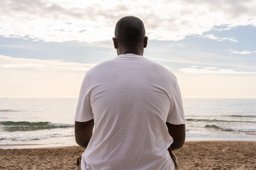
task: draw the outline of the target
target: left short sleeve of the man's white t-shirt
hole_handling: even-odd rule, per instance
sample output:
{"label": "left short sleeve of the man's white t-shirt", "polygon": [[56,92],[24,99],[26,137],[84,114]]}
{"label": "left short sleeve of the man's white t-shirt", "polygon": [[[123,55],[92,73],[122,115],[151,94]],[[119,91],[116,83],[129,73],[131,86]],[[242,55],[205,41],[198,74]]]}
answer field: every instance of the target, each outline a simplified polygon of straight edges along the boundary
{"label": "left short sleeve of the man's white t-shirt", "polygon": [[74,121],[85,122],[91,119],[94,119],[94,117],[90,104],[90,88],[85,75],[79,93]]}

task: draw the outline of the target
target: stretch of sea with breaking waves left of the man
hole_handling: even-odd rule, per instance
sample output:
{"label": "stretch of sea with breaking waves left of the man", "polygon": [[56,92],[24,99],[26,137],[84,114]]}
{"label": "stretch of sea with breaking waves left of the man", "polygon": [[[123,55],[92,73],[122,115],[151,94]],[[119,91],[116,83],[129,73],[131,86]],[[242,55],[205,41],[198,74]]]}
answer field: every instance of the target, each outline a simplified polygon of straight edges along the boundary
{"label": "stretch of sea with breaking waves left of the man", "polygon": [[0,98],[0,145],[50,142],[43,139],[61,144],[60,137],[75,144],[76,104],[76,98]]}

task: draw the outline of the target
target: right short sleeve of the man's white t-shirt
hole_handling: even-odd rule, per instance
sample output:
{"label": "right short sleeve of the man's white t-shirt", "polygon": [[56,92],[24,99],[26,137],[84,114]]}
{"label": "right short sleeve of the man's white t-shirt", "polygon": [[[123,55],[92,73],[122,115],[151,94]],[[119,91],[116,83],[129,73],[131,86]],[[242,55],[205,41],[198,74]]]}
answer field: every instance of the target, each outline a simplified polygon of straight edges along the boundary
{"label": "right short sleeve of the man's white t-shirt", "polygon": [[182,104],[182,96],[180,93],[180,87],[176,82],[176,88],[174,88],[173,94],[170,95],[171,108],[168,113],[167,122],[174,125],[185,124],[185,116]]}

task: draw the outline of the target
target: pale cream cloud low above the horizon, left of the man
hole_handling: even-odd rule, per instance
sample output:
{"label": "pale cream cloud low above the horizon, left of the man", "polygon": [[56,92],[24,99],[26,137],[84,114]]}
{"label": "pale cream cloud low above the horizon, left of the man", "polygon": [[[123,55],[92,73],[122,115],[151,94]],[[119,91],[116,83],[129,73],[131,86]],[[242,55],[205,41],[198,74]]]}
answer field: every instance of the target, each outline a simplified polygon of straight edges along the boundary
{"label": "pale cream cloud low above the horizon, left of the man", "polygon": [[0,55],[0,96],[78,97],[83,77],[94,65]]}

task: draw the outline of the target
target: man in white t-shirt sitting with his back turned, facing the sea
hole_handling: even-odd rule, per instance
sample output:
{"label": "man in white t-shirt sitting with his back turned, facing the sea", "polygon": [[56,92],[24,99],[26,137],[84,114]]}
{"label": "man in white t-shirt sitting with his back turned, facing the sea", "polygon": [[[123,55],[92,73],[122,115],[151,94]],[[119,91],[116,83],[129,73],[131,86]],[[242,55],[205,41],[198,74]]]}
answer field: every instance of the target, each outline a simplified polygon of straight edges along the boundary
{"label": "man in white t-shirt sitting with his back turned, facing the sea", "polygon": [[121,18],[113,42],[118,56],[87,71],[81,86],[75,115],[76,142],[86,148],[81,169],[173,170],[171,150],[185,139],[176,77],[143,57],[148,37],[139,18]]}

